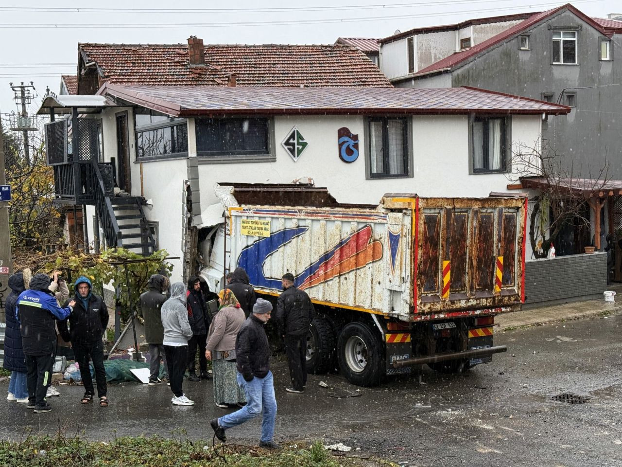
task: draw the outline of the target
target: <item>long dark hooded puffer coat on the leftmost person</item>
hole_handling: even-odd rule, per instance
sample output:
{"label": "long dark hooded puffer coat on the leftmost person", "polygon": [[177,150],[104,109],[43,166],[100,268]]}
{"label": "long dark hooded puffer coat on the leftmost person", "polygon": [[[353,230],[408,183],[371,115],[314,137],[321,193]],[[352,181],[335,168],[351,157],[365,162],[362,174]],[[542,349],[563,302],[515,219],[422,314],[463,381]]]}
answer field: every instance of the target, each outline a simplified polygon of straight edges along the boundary
{"label": "long dark hooded puffer coat on the leftmost person", "polygon": [[2,366],[9,371],[26,373],[26,357],[24,357],[24,351],[22,350],[22,334],[19,330],[19,323],[15,318],[17,297],[25,289],[24,275],[16,273],[9,277],[9,288],[11,288],[11,293],[9,293],[4,302],[6,329],[4,330],[4,363]]}

